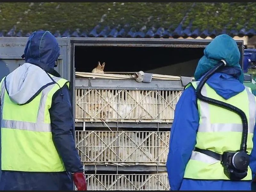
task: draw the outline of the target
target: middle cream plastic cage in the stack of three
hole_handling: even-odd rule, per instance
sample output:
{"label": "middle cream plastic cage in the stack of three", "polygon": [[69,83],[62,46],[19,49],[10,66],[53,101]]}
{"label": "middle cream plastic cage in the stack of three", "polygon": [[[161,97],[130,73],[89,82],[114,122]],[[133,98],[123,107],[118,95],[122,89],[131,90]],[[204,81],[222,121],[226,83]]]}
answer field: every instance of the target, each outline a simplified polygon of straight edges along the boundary
{"label": "middle cream plastic cage in the stack of three", "polygon": [[76,131],[83,164],[165,164],[170,132]]}

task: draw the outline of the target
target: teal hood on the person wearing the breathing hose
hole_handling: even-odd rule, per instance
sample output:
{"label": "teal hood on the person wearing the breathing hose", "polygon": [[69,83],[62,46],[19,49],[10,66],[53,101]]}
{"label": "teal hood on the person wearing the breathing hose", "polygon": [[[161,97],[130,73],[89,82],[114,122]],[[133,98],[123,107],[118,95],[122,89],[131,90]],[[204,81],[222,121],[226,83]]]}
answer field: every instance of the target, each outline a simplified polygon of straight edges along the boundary
{"label": "teal hood on the person wearing the breathing hose", "polygon": [[216,66],[222,59],[227,62],[227,66],[241,70],[238,79],[243,83],[244,74],[239,64],[240,52],[238,46],[236,41],[226,34],[216,36],[212,42],[205,47],[204,56],[199,60],[196,67],[194,75],[196,81],[204,76],[207,71]]}

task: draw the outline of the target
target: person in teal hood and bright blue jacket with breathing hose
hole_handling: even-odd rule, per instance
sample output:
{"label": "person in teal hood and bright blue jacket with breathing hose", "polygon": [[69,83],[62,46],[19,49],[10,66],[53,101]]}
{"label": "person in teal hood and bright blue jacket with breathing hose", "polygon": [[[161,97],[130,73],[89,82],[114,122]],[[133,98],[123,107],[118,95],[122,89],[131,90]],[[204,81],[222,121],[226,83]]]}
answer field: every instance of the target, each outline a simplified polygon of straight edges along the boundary
{"label": "person in teal hood and bright blue jacket with breathing hose", "polygon": [[[197,100],[195,89],[206,72],[220,60],[227,65],[216,71],[204,84],[202,95],[228,102],[244,111],[248,119],[247,151],[250,156],[247,176],[230,180],[220,160],[198,152],[208,149],[215,154],[238,151],[242,138],[242,120],[236,113]],[[186,86],[174,114],[170,147],[166,162],[171,190],[251,190],[256,172],[256,101],[250,88],[243,85],[240,53],[233,38],[217,36],[204,49],[195,71],[195,83]]]}

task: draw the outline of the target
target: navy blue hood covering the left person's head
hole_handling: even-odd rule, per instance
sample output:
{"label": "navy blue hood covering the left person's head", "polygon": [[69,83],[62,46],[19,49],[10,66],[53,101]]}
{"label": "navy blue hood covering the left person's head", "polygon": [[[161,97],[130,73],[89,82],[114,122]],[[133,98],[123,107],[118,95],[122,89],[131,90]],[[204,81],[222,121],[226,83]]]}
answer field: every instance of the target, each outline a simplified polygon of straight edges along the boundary
{"label": "navy blue hood covering the left person's head", "polygon": [[26,63],[51,71],[60,56],[60,47],[49,31],[35,31],[28,38],[24,56]]}

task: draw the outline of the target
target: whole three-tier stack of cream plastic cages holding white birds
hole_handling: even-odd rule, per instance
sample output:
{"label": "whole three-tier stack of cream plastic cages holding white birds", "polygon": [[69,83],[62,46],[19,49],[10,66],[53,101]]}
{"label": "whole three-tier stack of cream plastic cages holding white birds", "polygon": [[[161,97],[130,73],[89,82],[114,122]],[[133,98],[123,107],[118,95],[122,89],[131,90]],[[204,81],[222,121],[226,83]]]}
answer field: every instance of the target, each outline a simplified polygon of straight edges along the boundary
{"label": "whole three-tier stack of cream plastic cages holding white birds", "polygon": [[169,190],[180,80],[76,79],[76,148],[88,190]]}

